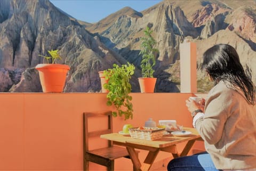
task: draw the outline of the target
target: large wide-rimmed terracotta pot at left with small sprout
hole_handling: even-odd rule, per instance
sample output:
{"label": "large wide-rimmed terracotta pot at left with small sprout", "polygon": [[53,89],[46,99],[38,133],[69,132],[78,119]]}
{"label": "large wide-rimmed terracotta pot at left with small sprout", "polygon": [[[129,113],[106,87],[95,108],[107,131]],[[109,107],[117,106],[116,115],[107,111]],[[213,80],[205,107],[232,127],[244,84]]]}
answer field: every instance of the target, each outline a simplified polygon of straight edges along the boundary
{"label": "large wide-rimmed terracotta pot at left with small sprout", "polygon": [[66,64],[37,64],[39,78],[44,93],[61,93],[65,85],[67,72]]}

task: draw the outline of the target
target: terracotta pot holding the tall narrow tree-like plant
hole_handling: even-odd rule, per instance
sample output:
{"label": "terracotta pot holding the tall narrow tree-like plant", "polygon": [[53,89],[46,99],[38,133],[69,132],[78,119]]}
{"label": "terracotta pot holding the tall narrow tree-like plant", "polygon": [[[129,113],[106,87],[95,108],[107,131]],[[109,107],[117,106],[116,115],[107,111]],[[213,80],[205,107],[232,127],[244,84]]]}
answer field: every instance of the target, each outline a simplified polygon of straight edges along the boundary
{"label": "terracotta pot holding the tall narrow tree-like plant", "polygon": [[156,78],[138,78],[141,93],[154,93]]}

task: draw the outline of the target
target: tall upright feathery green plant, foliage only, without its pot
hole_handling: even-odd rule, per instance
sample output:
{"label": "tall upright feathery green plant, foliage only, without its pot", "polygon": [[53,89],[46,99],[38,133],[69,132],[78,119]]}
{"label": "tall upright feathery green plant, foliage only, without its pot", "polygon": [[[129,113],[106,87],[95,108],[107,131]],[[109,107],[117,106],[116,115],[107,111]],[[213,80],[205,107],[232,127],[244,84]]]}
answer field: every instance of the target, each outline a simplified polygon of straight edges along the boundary
{"label": "tall upright feathery green plant, foliage only, without its pot", "polygon": [[155,70],[153,67],[156,64],[156,54],[159,52],[157,48],[154,48],[156,44],[156,40],[152,37],[153,30],[150,30],[149,27],[144,30],[144,34],[146,37],[142,37],[141,42],[141,51],[139,55],[142,54],[141,60],[141,72],[142,77],[150,77],[153,78],[153,74]]}

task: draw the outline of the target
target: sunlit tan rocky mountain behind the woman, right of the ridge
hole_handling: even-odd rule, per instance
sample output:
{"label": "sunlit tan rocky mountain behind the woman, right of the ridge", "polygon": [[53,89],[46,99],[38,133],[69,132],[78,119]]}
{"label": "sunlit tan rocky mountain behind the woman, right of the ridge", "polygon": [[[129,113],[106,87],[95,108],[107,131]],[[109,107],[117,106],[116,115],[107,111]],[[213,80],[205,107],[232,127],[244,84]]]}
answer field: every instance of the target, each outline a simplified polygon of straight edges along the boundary
{"label": "sunlit tan rocky mountain behind the woman, right of the ridge", "polygon": [[[140,38],[146,26],[152,27],[160,50],[155,67],[158,92],[179,91],[179,44],[185,39],[197,43],[198,66],[203,52],[213,44],[236,45],[241,61],[245,68],[250,68],[248,72],[255,84],[255,67],[251,63],[256,58],[255,9],[256,1],[165,0],[141,11],[142,16],[135,15],[138,12],[132,9],[130,15],[126,15],[128,9],[125,8],[116,12],[123,14],[119,18],[109,15],[96,23],[97,27],[92,25],[86,29],[103,36],[101,40],[107,47],[140,68]],[[216,36],[217,39],[211,38]],[[210,87],[207,87],[207,81],[203,86],[202,80],[205,82],[198,70],[198,91],[205,92]]]}

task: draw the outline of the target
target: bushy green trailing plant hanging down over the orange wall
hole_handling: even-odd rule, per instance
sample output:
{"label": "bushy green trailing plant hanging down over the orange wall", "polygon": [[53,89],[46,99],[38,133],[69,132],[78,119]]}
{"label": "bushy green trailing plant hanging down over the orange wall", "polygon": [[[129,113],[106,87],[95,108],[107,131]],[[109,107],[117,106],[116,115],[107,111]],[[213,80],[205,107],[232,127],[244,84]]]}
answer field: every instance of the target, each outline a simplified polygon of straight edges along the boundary
{"label": "bushy green trailing plant hanging down over the orange wall", "polygon": [[116,111],[112,112],[114,117],[123,116],[126,119],[133,117],[133,105],[131,103],[132,96],[129,95],[132,90],[130,84],[131,76],[134,74],[135,67],[133,64],[128,62],[119,67],[117,64],[113,64],[113,68],[103,71],[107,83],[103,85],[104,88],[108,89],[107,94],[107,105],[111,106],[114,104]]}

